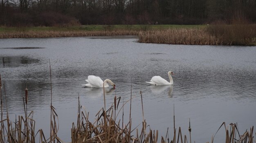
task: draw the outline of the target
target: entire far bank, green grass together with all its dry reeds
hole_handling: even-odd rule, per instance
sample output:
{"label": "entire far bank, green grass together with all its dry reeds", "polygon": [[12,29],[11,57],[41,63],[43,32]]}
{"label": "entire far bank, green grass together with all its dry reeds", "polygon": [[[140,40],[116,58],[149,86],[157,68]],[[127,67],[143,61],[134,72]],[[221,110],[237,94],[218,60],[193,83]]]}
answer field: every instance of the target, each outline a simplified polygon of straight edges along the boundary
{"label": "entire far bank, green grass together with all its dry reeds", "polygon": [[0,27],[0,38],[138,35],[138,42],[256,46],[256,24]]}

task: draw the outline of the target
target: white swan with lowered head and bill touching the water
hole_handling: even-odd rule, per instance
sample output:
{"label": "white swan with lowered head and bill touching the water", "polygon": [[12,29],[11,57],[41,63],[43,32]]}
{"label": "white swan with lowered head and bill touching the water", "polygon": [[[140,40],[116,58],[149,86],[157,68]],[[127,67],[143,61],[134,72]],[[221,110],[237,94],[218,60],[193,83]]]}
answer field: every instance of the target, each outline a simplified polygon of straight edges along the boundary
{"label": "white swan with lowered head and bill touching the water", "polygon": [[94,75],[89,75],[88,79],[85,79],[85,81],[87,81],[88,84],[82,84],[82,86],[94,87],[94,88],[103,88],[103,83],[104,83],[104,88],[109,87],[108,83],[111,84],[111,86],[114,86],[114,88],[116,86],[110,79],[105,79],[104,82],[103,82],[100,77],[96,77]]}

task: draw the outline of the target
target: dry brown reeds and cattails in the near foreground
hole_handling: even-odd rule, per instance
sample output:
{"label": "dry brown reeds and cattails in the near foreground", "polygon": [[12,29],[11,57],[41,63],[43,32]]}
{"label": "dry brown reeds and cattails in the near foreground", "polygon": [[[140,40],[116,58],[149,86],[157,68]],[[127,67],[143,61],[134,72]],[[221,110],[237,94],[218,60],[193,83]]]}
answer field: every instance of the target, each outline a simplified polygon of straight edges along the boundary
{"label": "dry brown reeds and cattails in the near foreground", "polygon": [[[50,69],[51,80],[51,69]],[[4,92],[2,92],[4,89]],[[52,81],[51,81],[51,99],[52,99]],[[104,88],[103,88],[104,90]],[[132,86],[131,86],[132,91]],[[105,93],[103,91],[103,93]],[[51,119],[49,120],[50,134],[46,137],[43,130],[35,130],[35,122],[33,120],[34,112],[27,112],[27,104],[29,104],[29,92],[25,88],[25,96],[23,98],[24,104],[24,116],[18,116],[15,121],[11,121],[8,116],[8,109],[6,108],[6,117],[3,117],[2,109],[4,108],[4,102],[6,100],[6,92],[0,75],[0,98],[1,98],[1,128],[0,128],[0,143],[64,143],[58,137],[58,115],[56,109],[52,105],[50,106]],[[5,98],[4,98],[5,97]],[[141,125],[136,128],[132,128],[131,108],[132,108],[132,96],[128,101],[121,101],[121,97],[114,98],[113,104],[110,107],[106,107],[105,94],[104,94],[104,107],[96,114],[97,119],[93,122],[89,121],[89,113],[85,108],[81,106],[78,95],[78,114],[76,123],[72,123],[71,128],[71,143],[191,143],[191,127],[189,121],[189,138],[182,136],[182,130],[179,127],[178,131],[175,128],[175,115],[173,107],[173,136],[169,138],[168,128],[165,136],[158,137],[158,130],[151,130],[149,125],[146,124],[143,111],[143,97],[141,97],[142,117]],[[5,99],[5,101],[3,100]],[[4,102],[3,102],[4,101]],[[120,102],[121,101],[121,102]],[[128,123],[124,123],[124,108],[125,105],[130,103],[130,118]],[[123,112],[122,115],[119,115]],[[231,123],[230,129],[226,126],[226,123],[222,123],[217,132],[223,127],[225,128],[225,143],[253,143],[254,140],[254,127],[250,130],[239,133],[238,125]],[[141,129],[139,129],[139,127]],[[166,129],[163,129],[166,130]],[[216,132],[216,134],[217,134]],[[215,135],[216,135],[215,134]],[[211,143],[214,141],[212,136]],[[208,142],[209,143],[209,142]]]}

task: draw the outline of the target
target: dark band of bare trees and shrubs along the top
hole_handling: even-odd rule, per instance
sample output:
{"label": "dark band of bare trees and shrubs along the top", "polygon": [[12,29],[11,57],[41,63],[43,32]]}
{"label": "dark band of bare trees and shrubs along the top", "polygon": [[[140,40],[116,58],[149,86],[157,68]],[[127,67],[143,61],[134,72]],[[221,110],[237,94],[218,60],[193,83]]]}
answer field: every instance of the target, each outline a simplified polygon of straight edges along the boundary
{"label": "dark band of bare trees and shrubs along the top", "polygon": [[0,25],[256,22],[256,0],[0,0]]}

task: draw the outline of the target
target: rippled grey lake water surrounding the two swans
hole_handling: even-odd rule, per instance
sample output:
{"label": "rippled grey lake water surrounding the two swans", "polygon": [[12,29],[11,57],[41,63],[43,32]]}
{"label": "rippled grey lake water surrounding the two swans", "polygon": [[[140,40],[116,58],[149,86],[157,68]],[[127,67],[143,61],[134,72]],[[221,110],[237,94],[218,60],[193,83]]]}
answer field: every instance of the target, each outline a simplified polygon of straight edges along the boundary
{"label": "rippled grey lake water surrounding the two swans", "polygon": [[[106,89],[106,106],[115,95],[130,99],[132,87],[132,125],[144,118],[161,136],[173,136],[175,126],[196,143],[211,141],[222,122],[238,123],[240,133],[256,125],[256,46],[191,46],[137,43],[135,37],[63,37],[0,39],[0,74],[7,94],[12,121],[24,115],[22,95],[29,90],[28,110],[34,111],[36,129],[49,134],[50,74],[52,101],[59,118],[58,136],[71,141],[70,129],[76,122],[78,95],[91,122],[104,106],[101,88],[84,88],[88,75],[111,79],[116,89]],[[149,86],[154,75],[173,86]],[[129,118],[130,104],[124,117]],[[5,111],[6,109],[3,108]],[[4,112],[4,114],[6,114]],[[121,114],[119,115],[121,119]],[[128,122],[125,122],[128,123]],[[141,128],[139,128],[140,130]],[[215,142],[225,142],[225,129]],[[255,131],[254,131],[255,132]],[[255,134],[255,133],[254,133]]]}

